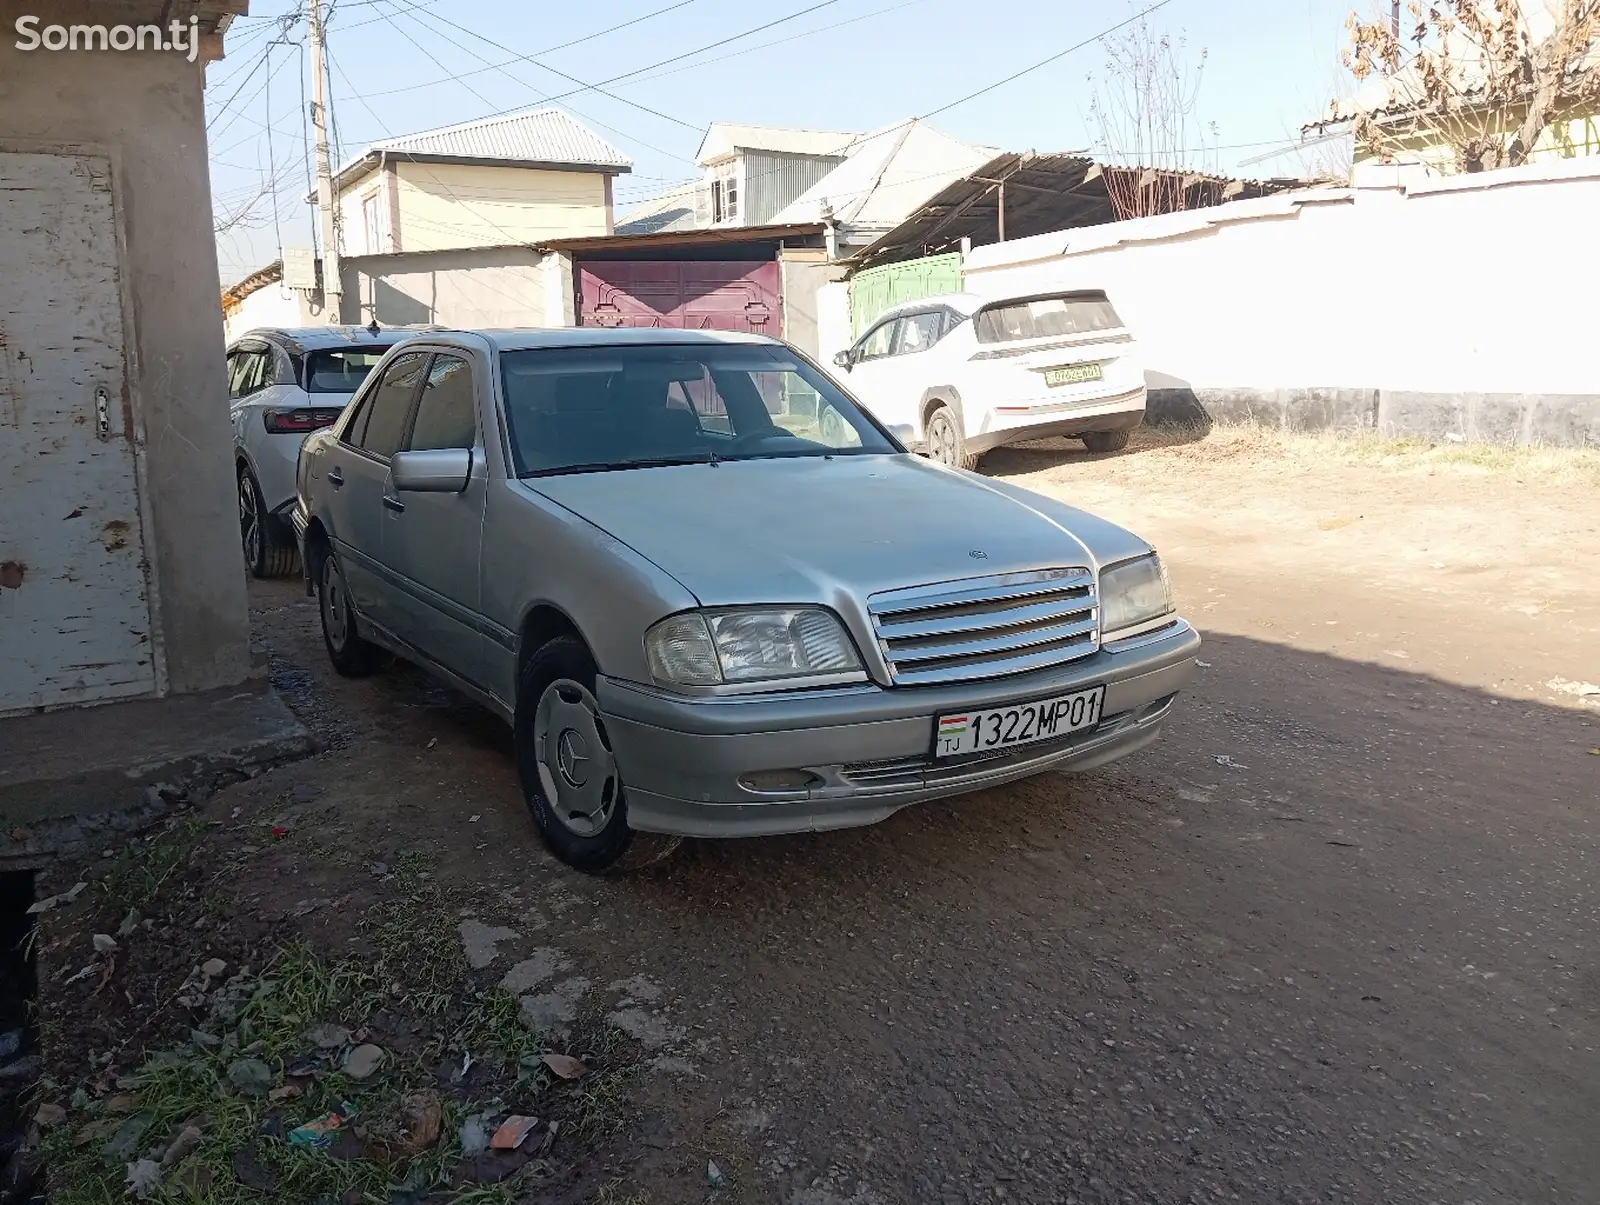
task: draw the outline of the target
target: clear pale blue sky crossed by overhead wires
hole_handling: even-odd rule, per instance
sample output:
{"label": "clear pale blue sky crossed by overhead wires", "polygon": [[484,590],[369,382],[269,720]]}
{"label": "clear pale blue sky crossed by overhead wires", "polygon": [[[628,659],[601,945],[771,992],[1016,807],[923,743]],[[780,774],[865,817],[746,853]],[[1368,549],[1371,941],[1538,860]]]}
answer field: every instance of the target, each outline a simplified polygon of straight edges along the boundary
{"label": "clear pale blue sky crossed by overhead wires", "polygon": [[[349,155],[386,134],[536,106],[579,88],[563,74],[598,83],[814,8],[606,85],[622,99],[581,91],[558,101],[634,160],[634,173],[618,181],[618,210],[626,211],[698,174],[693,158],[709,122],[872,130],[939,109],[1152,2],[686,0],[662,16],[541,54],[675,0],[338,0],[328,24],[334,117]],[[1363,10],[1371,2],[1357,0]],[[293,45],[278,45],[262,61],[278,32],[275,18],[298,8],[296,0],[253,0],[251,16],[229,34],[227,59],[210,67],[213,192],[221,210],[248,210],[218,240],[224,282],[275,259],[278,230],[285,243],[310,242],[299,107],[304,26],[288,32]],[[1147,18],[1157,30],[1184,37],[1190,61],[1206,51],[1197,117],[1216,125],[1216,170],[1299,170],[1294,155],[1245,168],[1240,160],[1291,138],[1341,88],[1349,10],[1350,0],[1168,0]],[[539,62],[483,70],[514,58],[483,38],[515,54],[539,54]],[[1090,147],[1090,77],[1102,72],[1104,61],[1104,50],[1091,43],[930,122],[1010,150]],[[264,182],[275,186],[277,213],[269,197],[258,198]]]}

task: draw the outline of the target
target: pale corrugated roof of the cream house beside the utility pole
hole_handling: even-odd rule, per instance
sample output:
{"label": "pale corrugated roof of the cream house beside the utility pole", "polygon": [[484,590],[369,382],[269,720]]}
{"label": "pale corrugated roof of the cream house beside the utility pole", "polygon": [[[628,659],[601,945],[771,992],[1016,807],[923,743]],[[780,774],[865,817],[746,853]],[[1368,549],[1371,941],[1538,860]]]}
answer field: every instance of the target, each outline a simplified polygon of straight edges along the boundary
{"label": "pale corrugated roof of the cream house beside the utility pole", "polygon": [[486,117],[478,122],[424,130],[416,134],[373,142],[357,158],[339,168],[342,181],[350,171],[381,154],[426,155],[442,160],[528,163],[581,170],[632,171],[634,162],[600,134],[563,109]]}

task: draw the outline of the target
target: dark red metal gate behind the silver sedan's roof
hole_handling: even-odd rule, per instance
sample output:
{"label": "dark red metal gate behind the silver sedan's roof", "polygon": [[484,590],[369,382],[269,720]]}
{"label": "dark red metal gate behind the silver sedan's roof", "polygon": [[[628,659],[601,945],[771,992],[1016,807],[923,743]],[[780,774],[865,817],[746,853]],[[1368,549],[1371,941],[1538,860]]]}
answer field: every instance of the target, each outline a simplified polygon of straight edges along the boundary
{"label": "dark red metal gate behind the silver sedan's roof", "polygon": [[778,262],[624,259],[578,269],[579,326],[782,336]]}

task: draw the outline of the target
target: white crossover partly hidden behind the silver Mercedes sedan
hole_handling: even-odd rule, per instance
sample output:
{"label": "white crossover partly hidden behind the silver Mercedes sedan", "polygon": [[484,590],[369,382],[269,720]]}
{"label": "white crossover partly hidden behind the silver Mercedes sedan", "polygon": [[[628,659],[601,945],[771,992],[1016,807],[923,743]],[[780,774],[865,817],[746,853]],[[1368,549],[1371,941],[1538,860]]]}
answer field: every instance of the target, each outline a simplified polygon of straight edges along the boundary
{"label": "white crossover partly hidden behind the silver Mercedes sedan", "polygon": [[416,330],[264,328],[229,346],[238,534],[253,576],[280,578],[296,566],[288,512],[306,435],[331,426],[384,352]]}

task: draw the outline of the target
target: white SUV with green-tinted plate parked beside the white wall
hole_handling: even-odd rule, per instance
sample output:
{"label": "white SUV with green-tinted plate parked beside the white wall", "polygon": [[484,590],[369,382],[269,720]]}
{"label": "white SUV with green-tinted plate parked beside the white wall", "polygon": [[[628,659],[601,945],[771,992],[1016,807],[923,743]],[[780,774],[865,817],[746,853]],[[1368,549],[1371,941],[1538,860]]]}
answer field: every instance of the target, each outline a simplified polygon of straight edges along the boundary
{"label": "white SUV with green-tinted plate parked beside the white wall", "polygon": [[1144,368],[1104,293],[909,301],[834,365],[907,446],[962,469],[1050,435],[1117,451],[1144,421]]}

